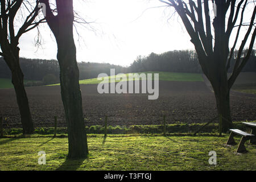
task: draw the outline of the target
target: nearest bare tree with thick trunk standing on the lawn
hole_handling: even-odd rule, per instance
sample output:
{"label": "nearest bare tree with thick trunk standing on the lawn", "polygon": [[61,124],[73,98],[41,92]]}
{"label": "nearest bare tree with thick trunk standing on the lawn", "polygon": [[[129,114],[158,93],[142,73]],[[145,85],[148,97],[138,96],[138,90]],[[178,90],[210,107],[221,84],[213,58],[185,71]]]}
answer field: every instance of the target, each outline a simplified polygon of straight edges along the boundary
{"label": "nearest bare tree with thick trunk standing on the lawn", "polygon": [[56,15],[52,13],[48,0],[40,2],[46,5],[46,20],[57,42],[61,97],[68,125],[68,158],[84,158],[88,155],[88,145],[82,117],[79,69],[73,39],[73,1],[56,0]]}

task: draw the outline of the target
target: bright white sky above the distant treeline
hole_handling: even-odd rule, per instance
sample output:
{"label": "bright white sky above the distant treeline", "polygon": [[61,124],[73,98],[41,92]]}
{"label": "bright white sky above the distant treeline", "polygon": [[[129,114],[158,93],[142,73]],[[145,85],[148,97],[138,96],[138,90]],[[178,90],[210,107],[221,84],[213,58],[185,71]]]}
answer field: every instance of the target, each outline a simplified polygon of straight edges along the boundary
{"label": "bright white sky above the distant treeline", "polygon": [[[90,27],[75,33],[77,61],[130,65],[137,56],[174,49],[194,49],[181,21],[156,0],[75,0],[74,9]],[[157,7],[157,8],[151,8]],[[169,19],[169,20],[168,20]],[[75,30],[74,30],[75,31]],[[34,46],[37,31],[20,38],[20,56],[56,59],[56,43],[47,24],[40,26],[43,44]]]}

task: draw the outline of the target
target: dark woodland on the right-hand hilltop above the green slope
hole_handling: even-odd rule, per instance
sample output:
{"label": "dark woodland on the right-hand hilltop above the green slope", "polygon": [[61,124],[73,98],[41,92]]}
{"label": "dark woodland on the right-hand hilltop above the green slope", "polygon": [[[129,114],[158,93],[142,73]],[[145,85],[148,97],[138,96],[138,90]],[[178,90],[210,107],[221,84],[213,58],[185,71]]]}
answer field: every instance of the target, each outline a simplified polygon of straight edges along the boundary
{"label": "dark woodland on the right-hand hilltop above the green slope", "polygon": [[[247,52],[242,53],[242,57]],[[237,51],[233,57],[237,56]],[[232,72],[234,59],[228,72]],[[180,73],[203,73],[195,51],[169,51],[161,54],[151,53],[149,56],[138,56],[128,68],[129,72],[163,71]],[[242,72],[256,72],[256,50],[251,52],[250,59]]]}

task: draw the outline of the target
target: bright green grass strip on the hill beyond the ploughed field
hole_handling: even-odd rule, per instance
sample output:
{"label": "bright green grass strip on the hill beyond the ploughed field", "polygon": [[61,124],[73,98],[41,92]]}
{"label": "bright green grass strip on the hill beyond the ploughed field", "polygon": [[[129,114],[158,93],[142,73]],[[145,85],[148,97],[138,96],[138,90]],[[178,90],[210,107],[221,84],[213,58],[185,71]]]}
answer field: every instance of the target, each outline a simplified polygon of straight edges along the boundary
{"label": "bright green grass strip on the hill beyond the ploughed field", "polygon": [[[159,73],[160,81],[204,81],[202,75],[199,73],[140,72],[139,74],[141,74],[141,73]],[[103,77],[103,78],[106,78],[106,80],[108,80],[106,82],[113,82],[112,80],[110,80],[111,78],[126,76],[127,81],[130,81],[128,75],[129,75],[129,73],[123,74],[123,75],[118,75],[118,76],[116,76],[116,75],[111,76],[111,77],[108,76],[108,77]],[[103,78],[102,78],[102,80],[103,80]],[[80,80],[79,83],[80,84],[99,84],[100,82],[102,82],[102,80],[97,80],[97,78],[91,78],[91,79],[86,79],[86,80]],[[135,80],[138,80],[138,79],[135,79]],[[114,80],[114,81],[118,82],[118,80]],[[119,81],[122,81],[122,78]],[[59,85],[59,84],[54,84],[54,85]]]}

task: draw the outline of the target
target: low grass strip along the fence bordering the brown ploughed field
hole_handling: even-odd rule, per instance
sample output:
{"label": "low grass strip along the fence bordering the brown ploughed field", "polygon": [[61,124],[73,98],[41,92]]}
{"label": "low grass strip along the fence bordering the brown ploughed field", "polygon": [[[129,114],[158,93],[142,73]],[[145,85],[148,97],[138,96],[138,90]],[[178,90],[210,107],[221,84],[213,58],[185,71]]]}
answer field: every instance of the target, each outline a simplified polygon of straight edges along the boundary
{"label": "low grass strip along the fence bordering the brown ploughed field", "polygon": [[[256,122],[256,121],[254,121]],[[104,123],[102,125],[86,126],[86,133],[88,134],[104,134]],[[205,123],[173,123],[166,125],[167,134],[182,134],[192,135],[195,131],[199,130]],[[234,128],[246,131],[245,125],[241,122],[233,122]],[[132,125],[132,126],[108,126],[108,134],[162,134],[164,132],[163,125]],[[250,132],[250,131],[248,131]],[[19,135],[22,134],[22,129],[3,129],[4,135]],[[57,134],[67,134],[67,127],[57,127]],[[218,123],[210,123],[200,130],[201,134],[215,135],[218,134]],[[54,134],[53,127],[38,127],[35,129],[35,134],[49,135]]]}

